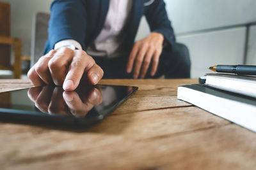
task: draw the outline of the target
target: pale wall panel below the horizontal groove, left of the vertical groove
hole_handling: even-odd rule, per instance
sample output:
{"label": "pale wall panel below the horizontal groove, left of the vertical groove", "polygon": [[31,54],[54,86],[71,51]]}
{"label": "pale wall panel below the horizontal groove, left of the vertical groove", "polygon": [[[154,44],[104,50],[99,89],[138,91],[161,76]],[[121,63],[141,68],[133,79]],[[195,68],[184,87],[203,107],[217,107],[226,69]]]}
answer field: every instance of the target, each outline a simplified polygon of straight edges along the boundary
{"label": "pale wall panel below the horizontal groove, left of the vertical groove", "polygon": [[245,42],[244,27],[179,36],[177,41],[189,47],[191,77],[209,73],[216,64],[242,64]]}

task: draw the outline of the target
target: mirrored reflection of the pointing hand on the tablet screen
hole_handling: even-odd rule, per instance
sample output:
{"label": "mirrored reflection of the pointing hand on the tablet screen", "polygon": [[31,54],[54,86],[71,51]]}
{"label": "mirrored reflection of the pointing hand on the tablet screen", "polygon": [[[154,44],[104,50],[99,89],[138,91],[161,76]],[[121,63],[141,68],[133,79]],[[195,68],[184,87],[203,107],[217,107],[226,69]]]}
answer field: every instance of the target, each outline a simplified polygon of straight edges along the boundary
{"label": "mirrored reflection of the pointing hand on the tablet screen", "polygon": [[28,97],[44,113],[84,117],[93,106],[102,103],[102,90],[86,86],[67,92],[62,87],[33,87],[28,90]]}

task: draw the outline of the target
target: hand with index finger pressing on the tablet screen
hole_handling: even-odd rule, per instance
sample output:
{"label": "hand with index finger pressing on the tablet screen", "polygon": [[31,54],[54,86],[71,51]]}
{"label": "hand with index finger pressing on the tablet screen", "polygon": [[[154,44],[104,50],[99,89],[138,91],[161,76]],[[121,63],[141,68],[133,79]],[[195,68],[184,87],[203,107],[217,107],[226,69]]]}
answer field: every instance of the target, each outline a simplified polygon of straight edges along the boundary
{"label": "hand with index finger pressing on the tablet screen", "polygon": [[75,90],[80,81],[97,84],[103,76],[103,71],[95,61],[83,50],[61,48],[51,50],[40,57],[38,62],[28,71],[28,77],[33,85],[44,84],[63,85],[67,91]]}

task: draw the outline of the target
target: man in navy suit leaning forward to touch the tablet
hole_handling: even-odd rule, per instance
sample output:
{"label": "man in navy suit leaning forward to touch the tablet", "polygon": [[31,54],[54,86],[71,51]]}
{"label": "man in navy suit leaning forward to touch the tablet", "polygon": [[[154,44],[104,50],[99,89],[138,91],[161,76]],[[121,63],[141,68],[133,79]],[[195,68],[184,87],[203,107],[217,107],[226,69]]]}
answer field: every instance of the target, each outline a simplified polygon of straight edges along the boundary
{"label": "man in navy suit leaning forward to touch the tablet", "polygon": [[[134,44],[143,15],[151,34]],[[48,53],[28,77],[35,86],[54,83],[64,90],[83,81],[95,85],[103,73],[104,78],[189,77],[190,60],[177,49],[163,0],[55,0]]]}

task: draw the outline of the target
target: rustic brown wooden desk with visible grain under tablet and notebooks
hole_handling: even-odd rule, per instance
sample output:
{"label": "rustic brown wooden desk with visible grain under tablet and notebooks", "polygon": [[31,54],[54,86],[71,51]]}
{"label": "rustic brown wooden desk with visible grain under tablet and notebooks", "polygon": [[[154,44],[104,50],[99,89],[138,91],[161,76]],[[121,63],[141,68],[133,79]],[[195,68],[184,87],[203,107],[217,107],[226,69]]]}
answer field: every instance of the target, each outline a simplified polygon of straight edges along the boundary
{"label": "rustic brown wooden desk with visible grain under tablet and notebooks", "polygon": [[[139,87],[88,132],[0,124],[0,169],[255,169],[256,134],[178,101],[197,80],[102,80]],[[0,90],[31,87],[1,80]]]}

